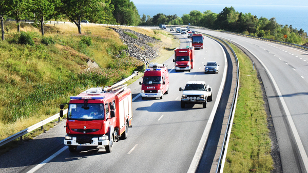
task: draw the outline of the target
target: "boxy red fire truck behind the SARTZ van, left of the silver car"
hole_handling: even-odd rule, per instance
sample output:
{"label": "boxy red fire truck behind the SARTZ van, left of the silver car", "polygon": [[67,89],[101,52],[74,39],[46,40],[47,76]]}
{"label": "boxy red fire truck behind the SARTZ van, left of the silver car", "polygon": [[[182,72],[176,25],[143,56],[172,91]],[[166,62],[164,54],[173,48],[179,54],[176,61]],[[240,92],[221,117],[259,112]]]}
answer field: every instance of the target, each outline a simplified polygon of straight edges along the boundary
{"label": "boxy red fire truck behind the SARTZ van, left of the silver car", "polygon": [[176,72],[182,70],[188,70],[190,72],[191,69],[194,69],[195,65],[195,48],[187,47],[187,48],[176,48],[175,49],[175,59],[173,60],[175,64]]}

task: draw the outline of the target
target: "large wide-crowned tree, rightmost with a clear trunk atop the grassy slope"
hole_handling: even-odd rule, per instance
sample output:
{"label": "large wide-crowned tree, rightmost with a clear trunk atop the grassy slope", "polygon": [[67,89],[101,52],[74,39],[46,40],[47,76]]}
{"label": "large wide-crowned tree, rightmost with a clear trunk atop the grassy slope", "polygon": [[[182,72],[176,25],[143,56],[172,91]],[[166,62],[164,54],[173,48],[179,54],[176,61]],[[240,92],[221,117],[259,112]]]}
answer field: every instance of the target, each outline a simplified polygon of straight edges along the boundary
{"label": "large wide-crowned tree, rightmost with a clear trunk atop the grassy slope", "polygon": [[113,6],[109,8],[109,4],[109,0],[60,0],[56,4],[56,9],[74,23],[78,33],[81,34],[82,19],[92,22],[112,20],[112,18],[108,19],[113,9]]}

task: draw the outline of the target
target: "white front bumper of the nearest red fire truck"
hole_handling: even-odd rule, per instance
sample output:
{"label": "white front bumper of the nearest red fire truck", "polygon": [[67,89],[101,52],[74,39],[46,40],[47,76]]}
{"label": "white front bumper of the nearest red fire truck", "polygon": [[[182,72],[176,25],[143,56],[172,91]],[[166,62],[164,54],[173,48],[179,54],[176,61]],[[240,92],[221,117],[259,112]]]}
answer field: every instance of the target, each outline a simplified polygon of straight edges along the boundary
{"label": "white front bumper of the nearest red fire truck", "polygon": [[64,145],[78,145],[78,146],[99,146],[109,145],[109,138],[106,135],[101,137],[83,138],[83,137],[72,137],[65,136]]}

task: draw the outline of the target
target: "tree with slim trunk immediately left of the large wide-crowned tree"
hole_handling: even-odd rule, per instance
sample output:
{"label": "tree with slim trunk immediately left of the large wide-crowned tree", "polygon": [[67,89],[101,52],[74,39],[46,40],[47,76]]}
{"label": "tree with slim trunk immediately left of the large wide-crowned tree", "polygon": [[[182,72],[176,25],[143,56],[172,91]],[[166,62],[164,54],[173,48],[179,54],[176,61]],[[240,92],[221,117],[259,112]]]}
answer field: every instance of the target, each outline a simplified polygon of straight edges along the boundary
{"label": "tree with slim trunk immediately left of the large wide-crowned tree", "polygon": [[41,23],[41,33],[44,35],[44,19],[51,19],[54,14],[54,3],[51,0],[32,1],[31,11],[34,17]]}

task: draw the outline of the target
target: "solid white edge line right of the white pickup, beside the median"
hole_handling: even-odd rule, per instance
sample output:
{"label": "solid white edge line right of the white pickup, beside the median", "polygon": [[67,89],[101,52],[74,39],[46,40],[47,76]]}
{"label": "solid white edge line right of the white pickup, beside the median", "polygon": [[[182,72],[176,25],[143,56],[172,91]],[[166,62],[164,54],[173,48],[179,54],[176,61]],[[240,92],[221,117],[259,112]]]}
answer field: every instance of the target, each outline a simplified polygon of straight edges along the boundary
{"label": "solid white edge line right of the white pickup, beside the median", "polygon": [[[218,42],[216,42],[216,43],[218,44]],[[222,82],[220,84],[220,88],[219,88],[219,91],[218,91],[218,94],[217,94],[217,97],[216,97],[216,101],[215,101],[213,110],[210,113],[210,116],[208,118],[208,121],[207,121],[207,124],[205,126],[204,132],[202,134],[201,140],[200,140],[199,145],[197,147],[195,156],[194,156],[194,158],[192,158],[192,161],[190,163],[189,169],[187,171],[189,173],[196,172],[198,164],[199,164],[199,161],[201,160],[203,149],[204,149],[204,146],[206,144],[206,141],[207,141],[207,138],[208,138],[208,135],[209,135],[209,131],[210,131],[211,125],[212,125],[212,123],[214,121],[214,117],[215,117],[215,114],[216,114],[216,111],[217,111],[217,107],[218,107],[218,104],[219,104],[219,101],[220,101],[220,97],[222,95],[222,91],[223,91],[224,84],[225,84],[226,77],[227,77],[227,68],[228,68],[227,57],[226,57],[226,54],[225,54],[222,46],[220,44],[218,44],[218,45],[222,49],[222,52],[224,53],[224,59],[225,59],[225,68],[224,68],[224,73],[223,73],[223,77],[222,77]]]}

